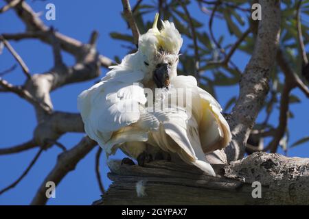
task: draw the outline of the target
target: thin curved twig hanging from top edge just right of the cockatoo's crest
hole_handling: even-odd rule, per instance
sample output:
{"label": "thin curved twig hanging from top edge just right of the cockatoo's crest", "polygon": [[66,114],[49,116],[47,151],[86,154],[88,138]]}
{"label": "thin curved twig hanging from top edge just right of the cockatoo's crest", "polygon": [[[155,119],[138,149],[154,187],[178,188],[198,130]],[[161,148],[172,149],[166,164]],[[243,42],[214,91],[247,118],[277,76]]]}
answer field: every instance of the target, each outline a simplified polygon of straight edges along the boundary
{"label": "thin curved twig hanging from top edge just right of the cockatoo's crest", "polygon": [[193,45],[194,45],[195,77],[196,77],[196,81],[198,81],[198,83],[199,83],[200,82],[200,74],[199,74],[200,56],[198,55],[198,42],[197,42],[197,38],[196,38],[195,27],[194,27],[194,23],[192,21],[192,18],[190,16],[190,12],[187,10],[187,7],[185,6],[185,4],[181,0],[179,0],[179,3],[181,4],[181,7],[185,11],[185,16],[187,16],[187,19],[189,21],[189,26],[190,26],[190,30],[191,30]]}

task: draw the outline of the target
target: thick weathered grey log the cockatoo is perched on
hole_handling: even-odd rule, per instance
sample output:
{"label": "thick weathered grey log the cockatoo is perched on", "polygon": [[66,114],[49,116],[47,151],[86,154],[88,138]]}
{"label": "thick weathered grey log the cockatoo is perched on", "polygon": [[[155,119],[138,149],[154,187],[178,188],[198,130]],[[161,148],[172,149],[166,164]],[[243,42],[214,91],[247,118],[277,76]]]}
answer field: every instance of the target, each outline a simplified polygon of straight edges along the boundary
{"label": "thick weathered grey log the cockatoo is perched on", "polygon": [[[309,205],[306,158],[253,153],[229,165],[214,164],[217,177],[172,162],[108,166],[113,183],[93,205]],[[139,181],[144,181],[143,197],[137,196]],[[251,195],[254,181],[262,185],[262,198]]]}

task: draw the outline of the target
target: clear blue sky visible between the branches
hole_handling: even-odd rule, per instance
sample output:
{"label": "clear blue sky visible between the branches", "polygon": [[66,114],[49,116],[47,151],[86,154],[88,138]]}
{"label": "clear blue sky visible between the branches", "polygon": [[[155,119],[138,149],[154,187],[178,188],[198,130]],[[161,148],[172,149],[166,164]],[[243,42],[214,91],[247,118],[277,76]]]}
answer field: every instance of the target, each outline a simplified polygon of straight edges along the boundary
{"label": "clear blue sky visible between the branches", "polygon": [[[126,23],[122,20],[120,13],[122,12],[121,1],[27,1],[36,12],[43,12],[41,18],[46,25],[53,25],[58,31],[67,36],[71,36],[82,42],[88,42],[91,31],[98,30],[100,37],[98,38],[98,51],[107,57],[124,57],[127,49],[122,47],[123,42],[110,38],[111,31],[119,31],[130,34],[126,29]],[[87,3],[86,3],[87,2]],[[134,5],[135,1],[130,1]],[[56,21],[45,20],[45,5],[54,3],[56,5]],[[0,7],[4,5],[0,2]],[[208,22],[209,17],[203,14],[196,5],[190,6],[190,12],[200,21]],[[149,14],[147,18],[153,18],[155,13]],[[203,28],[207,28],[203,27]],[[17,18],[16,14],[10,10],[4,14],[0,14],[0,33],[15,33],[24,30],[23,23]],[[227,28],[222,21],[215,21],[214,32],[216,36],[224,34],[227,36],[225,40],[233,42],[233,37],[228,37]],[[185,38],[185,44],[187,38]],[[30,68],[31,73],[43,73],[52,67],[52,49],[47,44],[43,44],[38,40],[22,40],[20,42],[11,42],[12,46]],[[62,53],[67,65],[74,64],[73,57],[67,53]],[[249,56],[244,53],[236,53],[233,61],[243,70],[249,60]],[[10,68],[15,61],[4,49],[0,55],[0,71]],[[107,72],[102,68],[102,76]],[[207,74],[207,72],[206,72]],[[13,84],[21,84],[25,81],[25,77],[21,72],[21,68],[17,67],[14,72],[5,75],[5,79]],[[95,79],[98,80],[98,79]],[[94,81],[84,83],[76,83],[65,88],[60,88],[52,92],[52,100],[55,110],[77,112],[76,96],[93,85]],[[218,101],[221,105],[225,105],[231,96],[238,94],[238,86],[218,88],[216,90]],[[290,142],[295,142],[299,138],[308,136],[308,109],[309,103],[304,94],[299,90],[294,90],[293,94],[300,97],[303,101],[301,105],[294,104],[290,108],[295,114],[295,118],[289,120]],[[0,93],[0,148],[20,144],[32,138],[32,131],[36,125],[34,110],[32,106],[20,99],[15,94]],[[278,113],[274,112],[271,121],[277,124]],[[264,118],[262,112],[258,120]],[[71,148],[77,144],[82,134],[68,133],[60,138],[60,142]],[[12,183],[34,157],[37,149],[24,153],[5,155],[0,157],[0,189]],[[76,170],[70,172],[67,177],[57,186],[56,198],[49,199],[48,205],[89,205],[93,201],[100,198],[100,190],[95,179],[95,151],[93,150],[87,157],[76,167]],[[16,188],[6,192],[0,196],[0,205],[27,205],[31,202],[38,186],[42,183],[49,170],[54,167],[56,157],[60,153],[60,149],[53,147],[43,152],[38,162],[32,168],[30,173],[16,186]],[[279,151],[280,152],[280,151]],[[281,151],[282,152],[282,151]],[[306,144],[290,149],[290,156],[309,157],[309,147]],[[117,153],[114,158],[122,157],[121,153]],[[102,177],[105,188],[111,183],[106,177],[108,168],[106,160],[101,161]]]}

